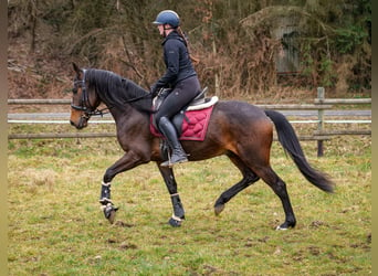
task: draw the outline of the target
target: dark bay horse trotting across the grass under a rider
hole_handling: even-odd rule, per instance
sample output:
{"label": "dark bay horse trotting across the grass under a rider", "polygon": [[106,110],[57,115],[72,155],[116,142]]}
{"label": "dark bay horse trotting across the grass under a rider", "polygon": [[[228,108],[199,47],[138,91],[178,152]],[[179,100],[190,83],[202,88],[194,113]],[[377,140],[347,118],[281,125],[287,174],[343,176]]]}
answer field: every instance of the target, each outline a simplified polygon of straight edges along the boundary
{"label": "dark bay horse trotting across the grass under a rider", "polygon": [[[155,161],[171,197],[174,214],[170,225],[180,226],[185,211],[172,168],[160,167],[160,138],[150,132],[151,95],[134,82],[109,71],[80,68],[73,64],[75,79],[71,104],[71,124],[77,129],[87,126],[92,115],[102,114],[105,104],[115,119],[117,139],[125,155],[111,166],[103,177],[101,200],[105,217],[114,222],[117,208],[111,200],[111,182],[115,176],[136,166]],[[272,124],[273,123],[273,124]],[[334,183],[326,173],[314,169],[306,160],[292,125],[277,112],[263,110],[244,102],[220,100],[213,107],[203,141],[182,141],[189,161],[225,155],[242,174],[240,182],[225,190],[216,201],[218,215],[224,204],[240,191],[262,179],[280,198],[285,221],[279,230],[294,227],[296,219],[285,182],[270,166],[273,126],[279,140],[302,174],[315,187],[333,192]]]}

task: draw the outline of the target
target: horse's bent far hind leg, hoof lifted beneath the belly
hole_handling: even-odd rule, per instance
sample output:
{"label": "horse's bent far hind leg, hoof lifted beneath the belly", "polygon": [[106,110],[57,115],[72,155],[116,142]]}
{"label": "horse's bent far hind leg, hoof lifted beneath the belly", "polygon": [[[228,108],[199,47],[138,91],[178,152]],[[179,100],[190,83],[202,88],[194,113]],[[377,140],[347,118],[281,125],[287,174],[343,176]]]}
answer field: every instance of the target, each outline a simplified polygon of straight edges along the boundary
{"label": "horse's bent far hind leg, hoof lifted beneath the belly", "polygon": [[223,209],[224,204],[229,202],[233,197],[235,197],[240,191],[244,190],[246,187],[256,182],[260,178],[249,168],[245,163],[234,153],[229,153],[228,157],[230,160],[238,167],[238,169],[243,174],[243,179],[224,191],[216,201],[214,212],[216,215],[219,215]]}

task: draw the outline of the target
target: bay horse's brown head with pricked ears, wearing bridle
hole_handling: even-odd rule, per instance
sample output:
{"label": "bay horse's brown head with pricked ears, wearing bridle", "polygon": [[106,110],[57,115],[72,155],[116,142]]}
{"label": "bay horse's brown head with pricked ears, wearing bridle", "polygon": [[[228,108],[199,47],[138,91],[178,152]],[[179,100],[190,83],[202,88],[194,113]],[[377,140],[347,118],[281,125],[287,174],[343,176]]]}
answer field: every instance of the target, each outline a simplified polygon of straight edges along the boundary
{"label": "bay horse's brown head with pricked ears, wearing bridle", "polygon": [[101,100],[94,87],[85,79],[85,70],[80,68],[75,63],[73,63],[73,68],[76,75],[72,88],[70,123],[77,129],[82,129],[87,126],[91,116],[97,114],[96,108]]}

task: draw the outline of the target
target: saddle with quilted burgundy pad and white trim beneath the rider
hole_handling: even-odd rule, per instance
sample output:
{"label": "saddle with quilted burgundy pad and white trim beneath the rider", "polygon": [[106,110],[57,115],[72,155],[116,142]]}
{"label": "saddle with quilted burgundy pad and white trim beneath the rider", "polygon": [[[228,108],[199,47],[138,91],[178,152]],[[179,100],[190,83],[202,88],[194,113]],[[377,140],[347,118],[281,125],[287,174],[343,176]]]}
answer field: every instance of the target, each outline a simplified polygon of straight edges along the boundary
{"label": "saddle with quilted burgundy pad and white trim beneath the rider", "polygon": [[[172,125],[176,128],[178,137],[181,140],[203,140],[204,132],[207,130],[207,125],[210,119],[210,114],[213,105],[218,102],[217,96],[212,96],[210,98],[206,97],[206,92],[208,87],[204,87],[199,95],[193,98],[189,105],[183,107],[177,115],[171,119]],[[170,88],[161,88],[158,95],[153,100],[153,110],[157,112],[161,106],[165,98],[170,93]],[[199,123],[198,126],[197,123]],[[182,136],[186,130],[189,129],[190,135]],[[155,136],[162,137],[159,132],[157,123],[155,119],[155,114],[151,115],[151,126],[150,130]],[[200,136],[193,136],[193,132],[199,134],[200,131],[204,131]]]}

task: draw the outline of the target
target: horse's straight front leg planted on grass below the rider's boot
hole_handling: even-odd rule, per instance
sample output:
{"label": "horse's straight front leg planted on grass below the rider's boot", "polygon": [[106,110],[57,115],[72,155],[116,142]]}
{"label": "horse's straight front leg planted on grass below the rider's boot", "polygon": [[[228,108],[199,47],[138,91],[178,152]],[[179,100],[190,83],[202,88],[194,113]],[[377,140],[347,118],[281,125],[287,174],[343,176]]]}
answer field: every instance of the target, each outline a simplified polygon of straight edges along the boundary
{"label": "horse's straight front leg planted on grass below the rider's boot", "polygon": [[180,200],[180,195],[177,192],[177,183],[175,180],[174,170],[171,168],[161,167],[159,164],[158,168],[164,178],[164,181],[166,182],[174,208],[174,214],[169,219],[168,223],[174,227],[181,226],[181,223],[185,220],[185,211]]}

